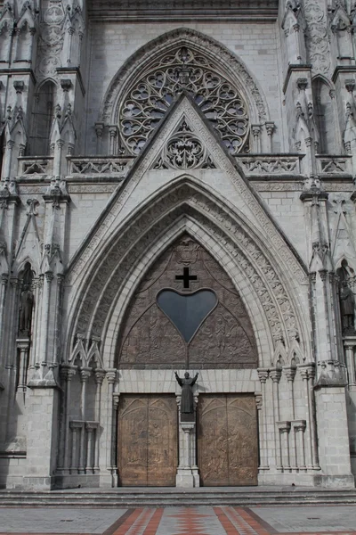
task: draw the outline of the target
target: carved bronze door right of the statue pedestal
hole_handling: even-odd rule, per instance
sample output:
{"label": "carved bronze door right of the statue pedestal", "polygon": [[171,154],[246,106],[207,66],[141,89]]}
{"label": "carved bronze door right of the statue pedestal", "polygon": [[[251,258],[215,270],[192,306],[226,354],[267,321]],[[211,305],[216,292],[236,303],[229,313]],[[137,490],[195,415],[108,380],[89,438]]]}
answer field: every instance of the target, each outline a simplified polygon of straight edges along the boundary
{"label": "carved bronze door right of the statue pedestal", "polygon": [[253,394],[200,395],[198,467],[200,484],[257,484],[257,416]]}

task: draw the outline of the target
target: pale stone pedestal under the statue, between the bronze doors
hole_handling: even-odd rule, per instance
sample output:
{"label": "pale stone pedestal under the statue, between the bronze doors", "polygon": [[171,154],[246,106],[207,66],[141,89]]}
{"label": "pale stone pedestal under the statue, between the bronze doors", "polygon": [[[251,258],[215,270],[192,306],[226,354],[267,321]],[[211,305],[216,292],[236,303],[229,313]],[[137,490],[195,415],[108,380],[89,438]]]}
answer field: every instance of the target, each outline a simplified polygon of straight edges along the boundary
{"label": "pale stone pedestal under the statue, between the bronze doors", "polygon": [[179,429],[179,466],[175,478],[176,487],[199,487],[195,434],[195,422],[181,422]]}

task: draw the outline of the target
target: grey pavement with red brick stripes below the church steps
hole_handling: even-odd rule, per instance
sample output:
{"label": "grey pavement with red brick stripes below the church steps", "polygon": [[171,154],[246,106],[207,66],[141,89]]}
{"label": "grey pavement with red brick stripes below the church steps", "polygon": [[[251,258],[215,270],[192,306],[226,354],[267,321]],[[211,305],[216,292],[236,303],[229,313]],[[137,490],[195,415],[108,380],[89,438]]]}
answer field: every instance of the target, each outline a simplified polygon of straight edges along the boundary
{"label": "grey pavement with red brick stripes below the church steps", "polygon": [[61,535],[356,535],[356,506],[0,509],[0,533]]}

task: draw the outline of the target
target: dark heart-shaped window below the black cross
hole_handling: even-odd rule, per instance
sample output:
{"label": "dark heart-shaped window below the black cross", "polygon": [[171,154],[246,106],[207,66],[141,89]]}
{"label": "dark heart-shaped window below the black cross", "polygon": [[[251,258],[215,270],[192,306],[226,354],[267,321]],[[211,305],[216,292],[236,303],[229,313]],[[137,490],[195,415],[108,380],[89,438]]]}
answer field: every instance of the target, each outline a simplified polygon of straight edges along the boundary
{"label": "dark heart-shaped window below the black cross", "polygon": [[217,305],[217,297],[212,290],[198,290],[179,293],[162,290],[158,293],[158,307],[166,314],[174,327],[189,343],[198,327]]}

